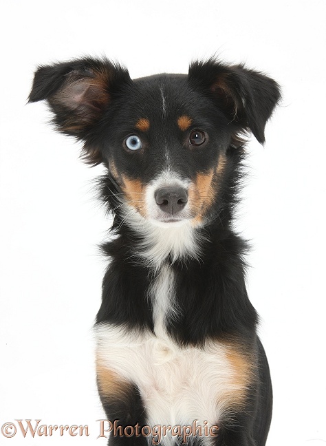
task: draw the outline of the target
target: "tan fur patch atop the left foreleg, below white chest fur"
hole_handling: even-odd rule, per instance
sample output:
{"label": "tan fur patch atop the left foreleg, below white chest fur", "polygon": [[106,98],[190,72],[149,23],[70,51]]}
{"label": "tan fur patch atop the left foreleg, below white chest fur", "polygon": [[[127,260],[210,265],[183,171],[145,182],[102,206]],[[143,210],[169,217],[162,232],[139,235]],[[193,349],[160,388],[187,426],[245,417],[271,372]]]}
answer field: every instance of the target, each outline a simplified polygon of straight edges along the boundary
{"label": "tan fur patch atop the left foreleg, below white chest fur", "polygon": [[122,400],[130,392],[131,384],[122,379],[116,372],[96,364],[96,375],[98,381],[98,391],[102,398]]}

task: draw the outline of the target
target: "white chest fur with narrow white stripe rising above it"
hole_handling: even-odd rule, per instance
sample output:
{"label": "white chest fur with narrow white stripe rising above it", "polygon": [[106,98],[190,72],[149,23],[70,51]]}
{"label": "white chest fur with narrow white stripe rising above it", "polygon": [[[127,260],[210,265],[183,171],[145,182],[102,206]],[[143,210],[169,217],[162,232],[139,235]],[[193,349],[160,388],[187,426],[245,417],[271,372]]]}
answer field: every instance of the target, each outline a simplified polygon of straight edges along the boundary
{"label": "white chest fur with narrow white stripe rising above it", "polygon": [[174,277],[168,268],[162,268],[149,298],[154,333],[101,324],[96,329],[98,359],[138,386],[149,425],[186,425],[195,420],[202,425],[204,421],[218,423],[232,405],[232,392],[240,390],[228,347],[208,341],[204,348],[180,348],[169,337],[164,321],[178,309]]}

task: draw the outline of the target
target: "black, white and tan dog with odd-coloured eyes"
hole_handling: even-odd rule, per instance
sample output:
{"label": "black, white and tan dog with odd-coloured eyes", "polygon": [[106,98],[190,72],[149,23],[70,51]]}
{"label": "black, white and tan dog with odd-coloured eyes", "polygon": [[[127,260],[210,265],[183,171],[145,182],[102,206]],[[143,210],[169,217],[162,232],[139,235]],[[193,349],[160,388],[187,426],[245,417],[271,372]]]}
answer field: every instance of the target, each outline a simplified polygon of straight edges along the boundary
{"label": "black, white and tan dog with odd-coloured eyes", "polygon": [[110,446],[265,445],[272,385],[232,218],[246,136],[263,144],[280,98],[272,78],[215,58],[134,80],[90,57],[35,73],[29,101],[47,100],[56,129],[106,168],[113,236],[94,330],[100,400],[120,429]]}

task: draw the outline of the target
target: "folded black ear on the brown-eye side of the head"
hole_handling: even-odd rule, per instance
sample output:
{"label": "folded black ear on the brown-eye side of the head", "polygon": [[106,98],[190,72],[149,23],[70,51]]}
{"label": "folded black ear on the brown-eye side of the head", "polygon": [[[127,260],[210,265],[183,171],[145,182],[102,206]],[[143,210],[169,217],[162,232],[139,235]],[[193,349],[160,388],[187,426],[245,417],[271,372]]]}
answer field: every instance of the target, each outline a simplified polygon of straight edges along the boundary
{"label": "folded black ear on the brown-eye side of the head", "polygon": [[188,80],[204,88],[240,129],[250,129],[261,144],[265,124],[281,98],[279,85],[243,65],[228,66],[215,59],[197,61],[189,67]]}

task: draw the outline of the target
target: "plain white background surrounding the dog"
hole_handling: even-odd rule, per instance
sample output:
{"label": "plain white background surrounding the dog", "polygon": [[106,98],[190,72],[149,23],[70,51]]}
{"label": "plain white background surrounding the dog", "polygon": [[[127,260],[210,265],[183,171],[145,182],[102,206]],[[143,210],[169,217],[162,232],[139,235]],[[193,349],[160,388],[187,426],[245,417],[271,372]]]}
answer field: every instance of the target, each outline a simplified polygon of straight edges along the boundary
{"label": "plain white background surrounding the dog", "polygon": [[197,57],[268,72],[283,103],[266,145],[248,147],[237,228],[252,241],[250,299],[274,385],[268,446],[326,443],[325,1],[3,2],[1,10],[0,425],[89,425],[89,437],[4,445],[105,445],[91,326],[109,222],[94,199],[101,167],[25,105],[36,65],[106,54],[131,77],[184,72]]}

